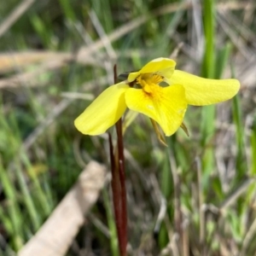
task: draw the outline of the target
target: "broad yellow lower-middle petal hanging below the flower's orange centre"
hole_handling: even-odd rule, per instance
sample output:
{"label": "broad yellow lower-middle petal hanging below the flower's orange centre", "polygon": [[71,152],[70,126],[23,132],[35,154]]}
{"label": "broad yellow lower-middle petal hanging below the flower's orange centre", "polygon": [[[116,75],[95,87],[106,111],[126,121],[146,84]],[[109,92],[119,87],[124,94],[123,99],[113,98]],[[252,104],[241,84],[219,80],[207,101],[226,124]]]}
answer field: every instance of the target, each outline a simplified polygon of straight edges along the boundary
{"label": "broad yellow lower-middle petal hanging below the flower's orange centre", "polygon": [[161,126],[166,136],[171,136],[182,124],[187,102],[182,85],[154,86],[150,94],[131,88],[125,93],[128,108],[147,115]]}

